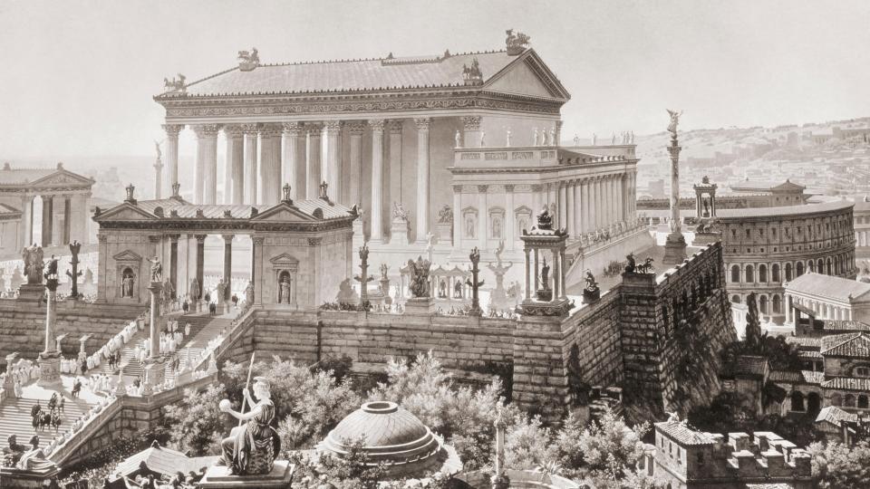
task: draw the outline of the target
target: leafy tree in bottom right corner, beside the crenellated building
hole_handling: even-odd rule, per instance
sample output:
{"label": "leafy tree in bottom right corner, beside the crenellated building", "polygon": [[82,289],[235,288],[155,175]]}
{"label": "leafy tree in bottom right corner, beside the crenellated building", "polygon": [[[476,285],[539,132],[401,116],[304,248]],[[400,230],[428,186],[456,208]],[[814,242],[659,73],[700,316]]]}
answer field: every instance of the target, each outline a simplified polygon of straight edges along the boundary
{"label": "leafy tree in bottom right corner, beside the crenellated building", "polygon": [[870,444],[842,443],[809,446],[813,479],[820,489],[864,489],[870,487]]}

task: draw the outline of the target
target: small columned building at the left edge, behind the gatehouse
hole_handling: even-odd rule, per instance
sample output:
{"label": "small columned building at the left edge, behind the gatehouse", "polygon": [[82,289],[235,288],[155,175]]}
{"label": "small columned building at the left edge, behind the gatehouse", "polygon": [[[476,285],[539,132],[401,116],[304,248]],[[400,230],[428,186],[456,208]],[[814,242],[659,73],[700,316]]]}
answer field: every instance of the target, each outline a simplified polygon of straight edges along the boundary
{"label": "small columned building at the left edge, behind the gatehouse", "polygon": [[42,204],[39,245],[88,243],[88,200],[92,178],[58,163],[55,168],[0,169],[0,254],[16,254],[34,243],[35,199]]}

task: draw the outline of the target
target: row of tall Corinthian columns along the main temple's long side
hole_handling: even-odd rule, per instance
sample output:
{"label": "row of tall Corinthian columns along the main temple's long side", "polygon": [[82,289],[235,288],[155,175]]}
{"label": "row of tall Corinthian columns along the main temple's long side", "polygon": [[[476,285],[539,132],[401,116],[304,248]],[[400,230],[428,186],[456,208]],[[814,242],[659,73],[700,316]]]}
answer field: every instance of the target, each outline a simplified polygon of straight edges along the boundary
{"label": "row of tall Corinthian columns along the main temple's long side", "polygon": [[[479,120],[479,118],[477,118]],[[417,128],[417,235],[429,233],[430,195],[430,118],[414,119]],[[372,137],[372,240],[383,238],[382,192],[399,195],[398,174],[383,175],[384,130],[389,129],[390,166],[401,164],[401,120],[328,120],[325,122],[284,122],[261,124],[198,124],[191,126],[197,135],[196,204],[217,204],[218,131],[227,137],[227,166],[224,173],[224,204],[276,204],[283,183],[291,184],[291,198],[316,198],[322,181],[328,184],[330,197],[337,198],[340,188],[341,153],[339,140],[343,130],[350,135],[350,181],[347,204],[361,200],[362,135],[366,126]],[[166,159],[169,186],[179,181],[179,132],[182,124],[163,126],[167,134]],[[326,138],[326,154],[321,155],[321,139]],[[259,145],[259,153],[257,146]],[[257,158],[257,156],[259,158]],[[304,168],[304,182],[301,170]],[[258,188],[258,185],[261,186]],[[257,195],[259,194],[259,198]]]}

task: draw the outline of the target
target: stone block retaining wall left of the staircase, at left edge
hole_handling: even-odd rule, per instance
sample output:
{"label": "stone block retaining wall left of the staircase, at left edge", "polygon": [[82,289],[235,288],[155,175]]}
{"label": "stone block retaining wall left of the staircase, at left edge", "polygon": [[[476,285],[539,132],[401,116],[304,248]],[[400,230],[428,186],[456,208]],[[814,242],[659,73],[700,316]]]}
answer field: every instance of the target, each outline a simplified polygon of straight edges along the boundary
{"label": "stone block retaining wall left of the staircase, at left edge", "polygon": [[[63,354],[67,358],[77,355],[79,338],[85,334],[92,335],[85,348],[93,353],[144,311],[140,305],[57,302],[57,334],[69,334],[61,343]],[[34,359],[44,345],[45,304],[0,299],[0,363],[14,351]]]}

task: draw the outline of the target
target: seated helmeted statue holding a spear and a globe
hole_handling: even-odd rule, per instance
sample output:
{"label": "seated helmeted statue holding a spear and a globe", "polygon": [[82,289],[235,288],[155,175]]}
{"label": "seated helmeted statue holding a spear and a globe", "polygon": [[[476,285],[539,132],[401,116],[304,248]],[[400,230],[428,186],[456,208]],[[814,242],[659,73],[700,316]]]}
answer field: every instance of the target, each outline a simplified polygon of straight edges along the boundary
{"label": "seated helmeted statue holding a spear and a globe", "polygon": [[[281,451],[281,438],[272,427],[275,418],[275,404],[269,392],[269,381],[264,377],[254,378],[254,398],[248,392],[251,383],[251,372],[254,368],[254,355],[247,370],[242,410],[235,411],[230,407],[229,399],[223,399],[218,404],[221,411],[229,413],[238,419],[229,436],[221,442],[223,458],[221,462],[227,465],[231,475],[265,475],[272,472],[275,458]],[[255,402],[256,399],[256,402]],[[245,405],[251,409],[246,413]]]}

